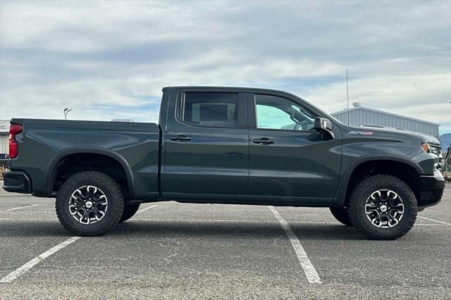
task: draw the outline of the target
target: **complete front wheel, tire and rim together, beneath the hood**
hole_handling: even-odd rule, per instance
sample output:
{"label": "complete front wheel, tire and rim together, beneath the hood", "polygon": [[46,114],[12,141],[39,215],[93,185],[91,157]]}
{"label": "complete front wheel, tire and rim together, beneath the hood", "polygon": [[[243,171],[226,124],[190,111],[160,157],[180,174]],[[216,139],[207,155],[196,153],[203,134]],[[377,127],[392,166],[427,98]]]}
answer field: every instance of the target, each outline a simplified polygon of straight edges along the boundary
{"label": "complete front wheel, tire and rim together, beneath the hood", "polygon": [[417,203],[397,177],[374,175],[354,188],[347,211],[352,225],[369,239],[397,239],[412,229]]}

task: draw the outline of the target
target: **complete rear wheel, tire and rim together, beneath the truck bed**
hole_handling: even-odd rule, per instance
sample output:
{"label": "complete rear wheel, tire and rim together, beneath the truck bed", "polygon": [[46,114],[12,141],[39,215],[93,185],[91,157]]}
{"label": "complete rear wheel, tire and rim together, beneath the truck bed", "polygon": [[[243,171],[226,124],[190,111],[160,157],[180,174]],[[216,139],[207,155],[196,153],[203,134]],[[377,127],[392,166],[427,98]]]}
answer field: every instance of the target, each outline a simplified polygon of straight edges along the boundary
{"label": "complete rear wheel, tire and rim together, beneath the truck bed", "polygon": [[56,195],[56,215],[75,235],[102,235],[119,222],[123,209],[121,187],[99,172],[69,177]]}

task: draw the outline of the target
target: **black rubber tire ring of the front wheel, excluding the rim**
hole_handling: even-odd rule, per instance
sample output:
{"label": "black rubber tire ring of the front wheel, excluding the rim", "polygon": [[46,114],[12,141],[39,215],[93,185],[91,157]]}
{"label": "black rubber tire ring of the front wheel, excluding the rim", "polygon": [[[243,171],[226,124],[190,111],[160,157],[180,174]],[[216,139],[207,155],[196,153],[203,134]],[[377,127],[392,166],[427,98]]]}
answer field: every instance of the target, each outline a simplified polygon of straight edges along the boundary
{"label": "black rubber tire ring of the front wheel, excluding the rim", "polygon": [[[366,218],[365,202],[371,193],[380,189],[391,189],[404,202],[404,215],[397,225],[390,228],[380,228],[371,224]],[[352,225],[362,235],[369,239],[398,239],[409,232],[416,220],[418,204],[412,189],[397,177],[390,175],[373,175],[359,182],[352,191],[347,212]]]}

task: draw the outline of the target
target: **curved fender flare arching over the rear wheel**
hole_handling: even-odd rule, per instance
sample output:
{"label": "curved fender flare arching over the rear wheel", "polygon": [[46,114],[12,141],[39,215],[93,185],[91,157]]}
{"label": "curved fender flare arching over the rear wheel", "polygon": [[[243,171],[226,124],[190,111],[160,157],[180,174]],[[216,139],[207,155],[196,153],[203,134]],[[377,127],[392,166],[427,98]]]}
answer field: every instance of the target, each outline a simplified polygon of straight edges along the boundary
{"label": "curved fender flare arching over the rear wheel", "polygon": [[49,194],[53,192],[52,189],[54,184],[54,177],[56,176],[56,165],[58,165],[61,159],[71,154],[101,154],[113,158],[115,161],[120,163],[122,168],[124,169],[125,176],[127,177],[127,185],[130,196],[133,195],[133,192],[135,191],[135,179],[133,177],[132,169],[130,168],[128,161],[126,161],[125,158],[121,156],[121,154],[118,154],[113,150],[89,146],[70,147],[68,149],[64,149],[63,151],[58,152],[56,156],[50,161],[44,176],[44,186],[46,187]]}

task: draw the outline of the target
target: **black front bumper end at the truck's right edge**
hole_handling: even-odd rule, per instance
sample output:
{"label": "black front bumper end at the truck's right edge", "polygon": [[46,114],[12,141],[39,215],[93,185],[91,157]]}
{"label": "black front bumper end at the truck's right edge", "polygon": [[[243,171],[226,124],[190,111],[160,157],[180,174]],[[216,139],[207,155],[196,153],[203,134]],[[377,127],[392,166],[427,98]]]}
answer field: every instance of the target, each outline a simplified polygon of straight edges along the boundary
{"label": "black front bumper end at the truck's right edge", "polygon": [[445,178],[439,170],[434,175],[421,175],[420,177],[420,201],[419,210],[438,204],[445,189]]}

